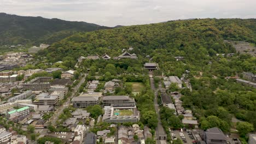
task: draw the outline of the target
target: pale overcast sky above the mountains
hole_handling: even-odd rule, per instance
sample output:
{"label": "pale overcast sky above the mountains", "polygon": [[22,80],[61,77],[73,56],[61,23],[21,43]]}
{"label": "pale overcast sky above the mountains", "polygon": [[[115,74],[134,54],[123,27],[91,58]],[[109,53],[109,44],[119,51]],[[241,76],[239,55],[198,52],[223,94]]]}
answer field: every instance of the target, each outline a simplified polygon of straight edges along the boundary
{"label": "pale overcast sky above the mountains", "polygon": [[102,26],[207,17],[256,18],[255,6],[256,0],[0,0],[3,13]]}

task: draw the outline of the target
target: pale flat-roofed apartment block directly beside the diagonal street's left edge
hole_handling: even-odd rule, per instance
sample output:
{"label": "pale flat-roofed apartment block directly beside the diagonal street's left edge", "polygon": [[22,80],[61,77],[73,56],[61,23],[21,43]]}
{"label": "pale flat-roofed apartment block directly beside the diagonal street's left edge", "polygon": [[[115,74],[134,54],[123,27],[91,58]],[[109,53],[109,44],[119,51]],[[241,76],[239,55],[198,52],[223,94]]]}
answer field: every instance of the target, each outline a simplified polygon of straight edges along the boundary
{"label": "pale flat-roofed apartment block directly beside the diagonal street's left edge", "polygon": [[35,105],[50,105],[55,106],[58,104],[58,97],[56,95],[50,95],[49,93],[41,93],[37,95],[33,101]]}

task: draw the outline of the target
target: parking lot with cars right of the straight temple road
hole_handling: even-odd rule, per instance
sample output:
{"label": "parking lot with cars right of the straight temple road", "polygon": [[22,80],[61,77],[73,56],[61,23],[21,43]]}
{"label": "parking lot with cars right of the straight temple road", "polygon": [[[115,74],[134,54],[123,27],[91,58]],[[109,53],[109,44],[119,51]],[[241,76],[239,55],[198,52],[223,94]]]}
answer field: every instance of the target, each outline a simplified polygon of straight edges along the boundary
{"label": "parking lot with cars right of the straight temple road", "polygon": [[171,134],[172,139],[174,139],[174,137],[176,137],[176,139],[183,140],[182,138],[185,137],[185,139],[183,140],[183,143],[193,144],[194,137],[192,135],[189,135],[187,133],[187,131],[171,130],[170,134]]}

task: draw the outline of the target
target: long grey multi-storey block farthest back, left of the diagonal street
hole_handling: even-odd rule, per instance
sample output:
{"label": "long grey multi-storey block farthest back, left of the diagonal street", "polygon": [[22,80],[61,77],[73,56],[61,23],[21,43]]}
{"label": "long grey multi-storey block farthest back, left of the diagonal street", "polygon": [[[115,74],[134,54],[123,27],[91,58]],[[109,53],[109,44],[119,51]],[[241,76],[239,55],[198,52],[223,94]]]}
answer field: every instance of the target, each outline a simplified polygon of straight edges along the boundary
{"label": "long grey multi-storey block farthest back, left of the diagonal street", "polygon": [[24,83],[23,88],[32,91],[48,91],[50,89],[50,80],[53,77],[36,77],[30,82]]}

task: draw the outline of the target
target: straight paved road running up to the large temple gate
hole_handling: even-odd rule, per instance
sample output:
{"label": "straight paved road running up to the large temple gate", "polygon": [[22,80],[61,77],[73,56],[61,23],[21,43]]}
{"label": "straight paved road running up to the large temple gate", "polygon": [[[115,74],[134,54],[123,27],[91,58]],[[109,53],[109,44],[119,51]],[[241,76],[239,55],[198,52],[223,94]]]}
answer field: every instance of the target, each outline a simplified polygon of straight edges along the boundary
{"label": "straight paved road running up to the large temple gate", "polygon": [[[155,98],[154,98],[154,106],[155,106],[155,112],[156,114],[158,115],[158,127],[156,127],[155,129],[155,134],[156,134],[156,137],[158,137],[159,139],[159,134],[161,133],[165,133],[164,128],[162,128],[162,123],[161,123],[161,118],[160,118],[160,114],[159,114],[159,105],[158,105],[158,89],[155,89],[155,86],[154,86],[154,79],[153,79],[153,76],[152,76],[152,72],[150,71],[149,72],[149,77],[150,77],[150,85],[151,85],[151,88],[153,90],[153,92],[155,93]],[[159,87],[161,88],[161,86]],[[157,144],[160,144],[160,140],[156,140],[156,143]]]}

